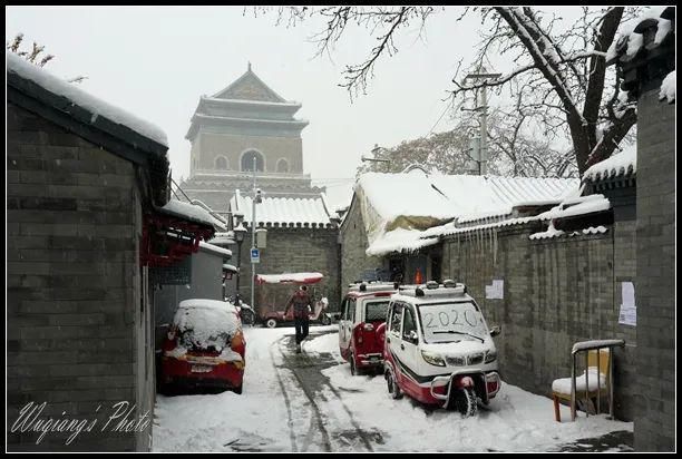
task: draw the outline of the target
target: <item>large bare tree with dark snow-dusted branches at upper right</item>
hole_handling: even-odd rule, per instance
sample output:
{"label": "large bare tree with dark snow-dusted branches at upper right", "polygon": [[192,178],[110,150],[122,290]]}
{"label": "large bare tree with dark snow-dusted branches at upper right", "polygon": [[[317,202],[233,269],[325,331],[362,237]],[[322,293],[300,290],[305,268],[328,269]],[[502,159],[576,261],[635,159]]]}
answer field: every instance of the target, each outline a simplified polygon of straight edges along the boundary
{"label": "large bare tree with dark snow-dusted branches at upper right", "polygon": [[[367,28],[377,45],[360,64],[345,67],[340,85],[357,95],[364,92],[379,58],[398,52],[396,38],[410,25],[426,28],[430,16],[444,11],[433,7],[294,7],[280,8],[277,23],[295,25],[312,16],[325,20],[320,31],[318,55],[329,52],[349,25]],[[496,50],[510,55],[518,67],[496,80],[458,82],[452,96],[488,86],[503,87],[520,80],[522,92],[529,95],[528,107],[542,111],[537,123],[545,134],[565,136],[573,145],[577,169],[607,158],[636,123],[632,104],[620,97],[621,76],[606,67],[606,52],[616,39],[621,21],[636,9],[613,7],[583,9],[582,18],[568,30],[556,31],[558,18],[545,18],[533,8],[466,8],[455,20],[476,12],[485,25],[480,55]],[[257,9],[256,9],[257,12]],[[289,14],[288,14],[289,12]],[[526,100],[526,99],[525,99]]]}

